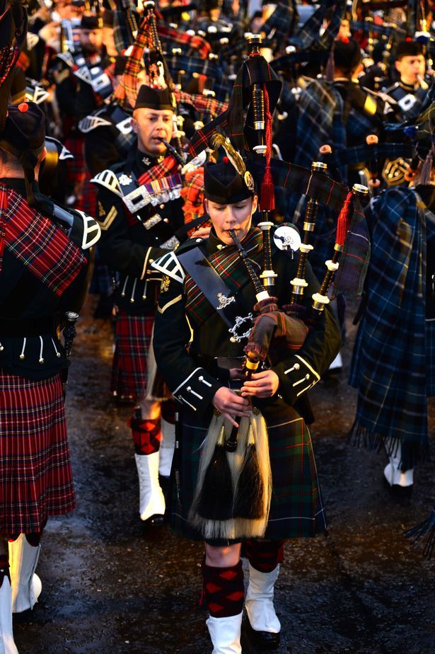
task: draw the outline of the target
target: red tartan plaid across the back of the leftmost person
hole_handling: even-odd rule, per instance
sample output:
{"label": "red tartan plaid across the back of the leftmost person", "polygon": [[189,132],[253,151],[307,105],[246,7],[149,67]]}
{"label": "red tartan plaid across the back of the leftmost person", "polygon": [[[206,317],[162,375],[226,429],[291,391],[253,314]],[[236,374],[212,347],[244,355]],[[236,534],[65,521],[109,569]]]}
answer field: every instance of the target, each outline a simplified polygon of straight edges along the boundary
{"label": "red tartan plaid across the back of the leftmost person", "polygon": [[58,296],[86,263],[62,229],[29,207],[22,195],[0,184],[0,270],[5,247]]}

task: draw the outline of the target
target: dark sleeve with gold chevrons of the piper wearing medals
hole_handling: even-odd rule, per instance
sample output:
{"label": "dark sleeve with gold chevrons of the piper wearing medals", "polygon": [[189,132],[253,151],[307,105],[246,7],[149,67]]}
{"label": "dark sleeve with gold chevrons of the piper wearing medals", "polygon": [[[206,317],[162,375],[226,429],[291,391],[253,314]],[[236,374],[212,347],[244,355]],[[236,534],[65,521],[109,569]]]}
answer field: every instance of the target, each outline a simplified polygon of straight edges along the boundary
{"label": "dark sleeve with gold chevrons of the piper wearing medals", "polygon": [[[141,280],[150,273],[156,275],[151,270],[151,262],[168,251],[134,241],[121,197],[99,188],[96,219],[101,228],[99,248],[104,263],[124,275]],[[140,227],[138,222],[137,229]]]}

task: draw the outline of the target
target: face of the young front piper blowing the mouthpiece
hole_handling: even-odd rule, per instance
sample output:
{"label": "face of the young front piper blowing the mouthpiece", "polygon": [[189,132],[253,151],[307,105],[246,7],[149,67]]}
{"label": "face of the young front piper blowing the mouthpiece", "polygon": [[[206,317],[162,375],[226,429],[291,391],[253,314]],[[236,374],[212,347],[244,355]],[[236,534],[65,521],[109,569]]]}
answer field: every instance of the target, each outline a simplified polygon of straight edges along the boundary
{"label": "face of the young front piper blowing the mouthpiece", "polygon": [[228,230],[236,231],[239,241],[245,238],[251,226],[252,215],[257,209],[257,196],[247,197],[233,205],[219,205],[206,198],[204,205],[218,239],[226,245],[233,245],[234,241]]}

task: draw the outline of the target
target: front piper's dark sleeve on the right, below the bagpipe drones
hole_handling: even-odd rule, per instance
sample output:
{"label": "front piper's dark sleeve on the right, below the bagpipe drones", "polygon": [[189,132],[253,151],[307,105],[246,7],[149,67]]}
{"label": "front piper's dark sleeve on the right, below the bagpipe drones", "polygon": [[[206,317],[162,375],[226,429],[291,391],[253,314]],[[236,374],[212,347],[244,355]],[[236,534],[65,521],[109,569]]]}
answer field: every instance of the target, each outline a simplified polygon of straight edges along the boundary
{"label": "front piper's dark sleeve on the right, below the bagpipe drones", "polygon": [[[320,285],[309,263],[306,281],[306,303],[311,304],[311,296],[318,292]],[[293,406],[303,393],[317,384],[340,351],[340,345],[340,326],[334,312],[327,306],[311,327],[297,354],[286,357],[272,368],[279,377],[279,393],[286,403]]]}

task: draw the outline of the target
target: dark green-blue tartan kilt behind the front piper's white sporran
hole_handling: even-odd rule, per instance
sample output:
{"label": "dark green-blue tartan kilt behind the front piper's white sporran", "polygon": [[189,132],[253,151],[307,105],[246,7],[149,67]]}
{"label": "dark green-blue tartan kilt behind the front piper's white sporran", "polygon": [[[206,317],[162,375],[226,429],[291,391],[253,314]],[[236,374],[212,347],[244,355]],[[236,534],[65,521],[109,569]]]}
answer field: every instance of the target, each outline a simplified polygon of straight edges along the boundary
{"label": "dark green-blue tartan kilt behind the front piper's white sporran", "polygon": [[[324,532],[325,510],[305,421],[280,398],[260,410],[267,423],[272,469],[272,502],[265,538],[313,537]],[[178,488],[173,483],[170,521],[175,532],[194,540],[202,540],[202,534],[192,528],[188,515],[195,493],[200,447],[210,420],[211,411],[205,417],[190,412],[181,415],[178,425],[180,449],[173,469],[178,469],[180,476]]]}

